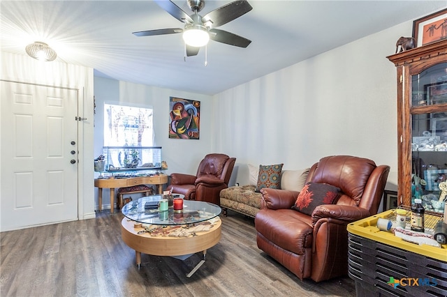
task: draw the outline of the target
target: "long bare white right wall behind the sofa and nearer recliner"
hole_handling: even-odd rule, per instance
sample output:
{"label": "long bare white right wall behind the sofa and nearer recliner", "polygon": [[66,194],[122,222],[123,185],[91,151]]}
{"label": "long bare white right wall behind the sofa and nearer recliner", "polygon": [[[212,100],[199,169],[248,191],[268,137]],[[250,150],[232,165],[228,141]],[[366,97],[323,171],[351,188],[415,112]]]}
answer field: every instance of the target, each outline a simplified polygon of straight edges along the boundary
{"label": "long bare white right wall behind the sofa and nearer recliner", "polygon": [[396,69],[386,56],[412,22],[394,26],[214,96],[212,148],[247,163],[309,167],[326,155],[390,165],[397,190]]}

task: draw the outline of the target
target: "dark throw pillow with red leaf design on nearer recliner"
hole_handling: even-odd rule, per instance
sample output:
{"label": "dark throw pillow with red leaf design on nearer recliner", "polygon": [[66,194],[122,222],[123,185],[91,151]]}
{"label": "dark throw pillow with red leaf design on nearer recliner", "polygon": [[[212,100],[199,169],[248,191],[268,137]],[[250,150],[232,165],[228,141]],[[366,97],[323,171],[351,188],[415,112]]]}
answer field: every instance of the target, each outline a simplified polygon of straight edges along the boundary
{"label": "dark throw pillow with red leaf design on nearer recliner", "polygon": [[340,196],[340,189],[327,183],[306,183],[292,208],[300,213],[312,215],[318,205],[334,204]]}

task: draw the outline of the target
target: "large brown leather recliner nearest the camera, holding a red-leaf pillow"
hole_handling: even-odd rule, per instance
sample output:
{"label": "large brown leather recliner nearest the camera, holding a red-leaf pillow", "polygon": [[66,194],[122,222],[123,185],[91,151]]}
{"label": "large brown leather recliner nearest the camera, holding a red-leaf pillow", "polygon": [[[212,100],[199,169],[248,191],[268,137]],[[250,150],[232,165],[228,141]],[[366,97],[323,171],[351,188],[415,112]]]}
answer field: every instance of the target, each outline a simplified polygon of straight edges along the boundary
{"label": "large brown leather recliner nearest the camera, holding a red-leaf pillow", "polygon": [[322,158],[306,182],[335,185],[342,194],[336,204],[316,206],[310,216],[291,209],[298,192],[263,188],[255,218],[258,248],[301,280],[311,277],[320,282],[346,275],[346,226],[377,213],[389,171],[389,166],[376,166],[365,158]]}

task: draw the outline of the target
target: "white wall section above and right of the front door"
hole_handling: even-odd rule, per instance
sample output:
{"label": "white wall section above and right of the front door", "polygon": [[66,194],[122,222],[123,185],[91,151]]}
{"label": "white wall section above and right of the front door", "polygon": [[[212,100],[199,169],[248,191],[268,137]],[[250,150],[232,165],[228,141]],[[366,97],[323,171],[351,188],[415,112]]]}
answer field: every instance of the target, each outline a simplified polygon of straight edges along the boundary
{"label": "white wall section above and right of the front door", "polygon": [[78,139],[80,179],[80,220],[94,218],[93,172],[93,68],[69,65],[59,61],[41,62],[21,54],[1,52],[1,79],[79,90],[78,109],[82,121]]}

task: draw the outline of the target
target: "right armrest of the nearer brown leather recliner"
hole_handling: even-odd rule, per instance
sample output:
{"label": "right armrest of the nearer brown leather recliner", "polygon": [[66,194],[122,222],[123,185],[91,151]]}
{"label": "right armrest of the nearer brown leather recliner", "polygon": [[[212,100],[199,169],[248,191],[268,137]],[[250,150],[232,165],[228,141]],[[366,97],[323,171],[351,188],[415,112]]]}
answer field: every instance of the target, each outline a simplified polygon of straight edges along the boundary
{"label": "right armrest of the nearer brown leather recliner", "polygon": [[324,204],[316,206],[312,213],[312,226],[315,226],[318,220],[323,218],[332,218],[346,222],[354,222],[369,216],[369,211],[358,206],[347,206],[337,204]]}

